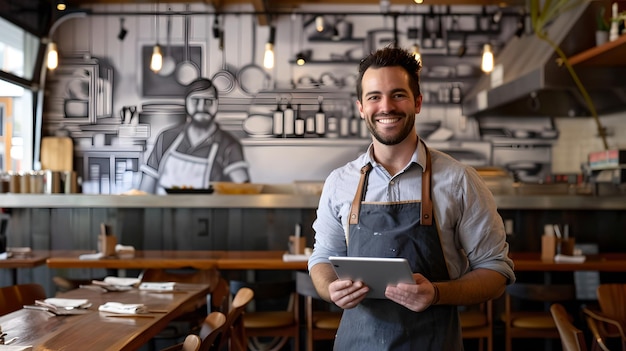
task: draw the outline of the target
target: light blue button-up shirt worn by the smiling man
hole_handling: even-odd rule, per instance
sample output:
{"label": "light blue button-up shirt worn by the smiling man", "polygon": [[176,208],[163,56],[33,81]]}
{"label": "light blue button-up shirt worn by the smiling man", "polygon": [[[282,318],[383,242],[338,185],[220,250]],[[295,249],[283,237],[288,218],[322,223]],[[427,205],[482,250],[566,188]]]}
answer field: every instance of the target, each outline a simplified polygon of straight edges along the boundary
{"label": "light blue button-up shirt worn by the smiling man", "polygon": [[[438,150],[429,150],[433,212],[450,278],[485,268],[500,272],[509,284],[513,283],[513,261],[508,257],[504,224],[491,191],[473,167]],[[309,270],[318,263],[329,263],[328,256],[347,254],[350,207],[361,167],[368,162],[373,169],[365,202],[421,201],[422,170],[426,167],[426,148],[421,140],[409,164],[396,175],[389,174],[371,155],[370,145],[366,153],[335,169],[326,179],[313,223],[315,245]]]}

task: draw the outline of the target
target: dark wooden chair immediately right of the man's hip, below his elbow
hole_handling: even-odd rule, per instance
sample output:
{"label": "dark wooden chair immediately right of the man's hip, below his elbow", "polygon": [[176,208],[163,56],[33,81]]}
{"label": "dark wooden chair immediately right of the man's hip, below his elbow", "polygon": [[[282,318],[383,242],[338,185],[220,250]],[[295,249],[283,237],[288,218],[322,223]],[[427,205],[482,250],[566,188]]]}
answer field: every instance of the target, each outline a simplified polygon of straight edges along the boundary
{"label": "dark wooden chair immediately right of the man's hip, below his elbow", "polygon": [[463,339],[478,339],[478,349],[493,350],[493,302],[463,306],[459,313]]}

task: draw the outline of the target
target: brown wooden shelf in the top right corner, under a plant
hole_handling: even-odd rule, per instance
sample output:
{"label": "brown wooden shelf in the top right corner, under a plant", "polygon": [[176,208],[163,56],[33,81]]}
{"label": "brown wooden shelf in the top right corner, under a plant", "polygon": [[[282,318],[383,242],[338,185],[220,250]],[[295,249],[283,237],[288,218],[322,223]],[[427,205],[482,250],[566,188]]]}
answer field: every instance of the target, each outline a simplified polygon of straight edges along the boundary
{"label": "brown wooden shelf in the top right corner, under a plant", "polygon": [[572,66],[625,66],[626,35],[578,53],[569,58]]}

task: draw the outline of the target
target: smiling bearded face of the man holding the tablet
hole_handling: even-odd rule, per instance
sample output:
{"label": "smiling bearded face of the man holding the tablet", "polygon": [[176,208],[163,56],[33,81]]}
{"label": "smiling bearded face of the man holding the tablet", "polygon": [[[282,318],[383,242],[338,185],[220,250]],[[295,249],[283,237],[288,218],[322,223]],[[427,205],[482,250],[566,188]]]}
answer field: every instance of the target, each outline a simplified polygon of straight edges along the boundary
{"label": "smiling bearded face of the man holding the tablet", "polygon": [[363,74],[361,118],[381,144],[396,145],[415,128],[422,97],[414,97],[408,74],[402,67],[369,68]]}

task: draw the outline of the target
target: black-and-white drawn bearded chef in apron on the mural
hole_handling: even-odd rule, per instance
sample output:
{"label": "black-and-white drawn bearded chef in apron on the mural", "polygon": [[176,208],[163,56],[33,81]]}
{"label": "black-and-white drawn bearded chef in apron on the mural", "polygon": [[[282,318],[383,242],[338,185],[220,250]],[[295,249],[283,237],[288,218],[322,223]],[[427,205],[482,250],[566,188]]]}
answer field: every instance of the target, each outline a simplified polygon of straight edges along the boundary
{"label": "black-and-white drawn bearded chef in apron on the mural", "polygon": [[165,189],[205,189],[212,181],[250,181],[248,163],[239,140],[220,129],[215,121],[217,89],[206,78],[187,86],[187,123],[163,131],[157,137],[139,189],[165,194]]}

